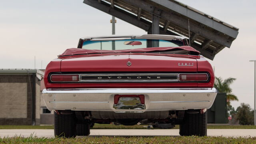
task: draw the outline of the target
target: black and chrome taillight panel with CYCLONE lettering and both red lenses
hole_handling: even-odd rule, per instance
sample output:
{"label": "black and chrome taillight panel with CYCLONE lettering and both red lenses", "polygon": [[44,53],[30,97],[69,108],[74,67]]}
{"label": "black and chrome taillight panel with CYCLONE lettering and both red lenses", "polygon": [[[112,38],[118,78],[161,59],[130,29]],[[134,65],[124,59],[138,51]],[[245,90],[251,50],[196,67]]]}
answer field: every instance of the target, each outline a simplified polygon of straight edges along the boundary
{"label": "black and chrome taillight panel with CYCLONE lettering and both red lenses", "polygon": [[205,73],[118,73],[118,74],[50,74],[50,83],[174,83],[209,82],[210,75]]}

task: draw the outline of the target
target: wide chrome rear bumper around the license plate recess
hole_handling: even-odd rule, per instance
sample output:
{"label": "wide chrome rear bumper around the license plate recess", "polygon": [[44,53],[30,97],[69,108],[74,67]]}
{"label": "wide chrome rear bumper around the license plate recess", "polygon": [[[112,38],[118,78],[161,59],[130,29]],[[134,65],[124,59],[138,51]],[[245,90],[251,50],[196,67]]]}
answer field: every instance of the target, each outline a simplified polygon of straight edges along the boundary
{"label": "wide chrome rear bumper around the license plate recess", "polygon": [[[144,112],[210,108],[216,88],[90,88],[44,89],[49,110]],[[115,109],[114,95],[144,95],[144,109]]]}

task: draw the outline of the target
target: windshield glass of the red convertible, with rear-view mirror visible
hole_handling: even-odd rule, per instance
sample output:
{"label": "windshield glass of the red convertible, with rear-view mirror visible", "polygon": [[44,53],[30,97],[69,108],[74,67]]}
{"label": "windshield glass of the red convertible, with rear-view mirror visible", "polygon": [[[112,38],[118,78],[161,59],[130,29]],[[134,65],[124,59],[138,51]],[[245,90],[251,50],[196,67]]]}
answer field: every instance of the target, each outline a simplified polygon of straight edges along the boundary
{"label": "windshield glass of the red convertible, with rear-view mirror visible", "polygon": [[[152,46],[152,41],[155,46]],[[153,43],[154,43],[153,42]],[[83,49],[88,50],[126,50],[134,48],[151,47],[177,47],[184,46],[182,40],[148,40],[148,39],[128,39],[128,40],[101,40],[83,42]]]}

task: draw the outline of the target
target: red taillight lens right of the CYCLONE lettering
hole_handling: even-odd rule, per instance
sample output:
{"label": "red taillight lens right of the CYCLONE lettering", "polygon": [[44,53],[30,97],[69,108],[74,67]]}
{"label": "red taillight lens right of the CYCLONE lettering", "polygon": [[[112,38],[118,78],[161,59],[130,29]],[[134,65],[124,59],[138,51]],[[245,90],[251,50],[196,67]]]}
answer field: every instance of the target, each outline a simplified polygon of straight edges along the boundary
{"label": "red taillight lens right of the CYCLONE lettering", "polygon": [[180,74],[180,81],[207,81],[207,74]]}

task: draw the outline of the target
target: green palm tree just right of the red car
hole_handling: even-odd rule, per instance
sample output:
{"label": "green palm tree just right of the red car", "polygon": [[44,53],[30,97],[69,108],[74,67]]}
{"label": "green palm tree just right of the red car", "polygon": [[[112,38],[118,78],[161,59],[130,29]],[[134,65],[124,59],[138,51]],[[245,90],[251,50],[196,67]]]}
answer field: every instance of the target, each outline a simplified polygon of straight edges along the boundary
{"label": "green palm tree just right of the red car", "polygon": [[218,92],[227,94],[228,106],[230,106],[230,101],[238,101],[237,96],[232,94],[232,89],[230,88],[230,85],[234,82],[234,80],[236,80],[236,78],[227,78],[222,80],[221,77],[215,77],[214,87],[218,90]]}

